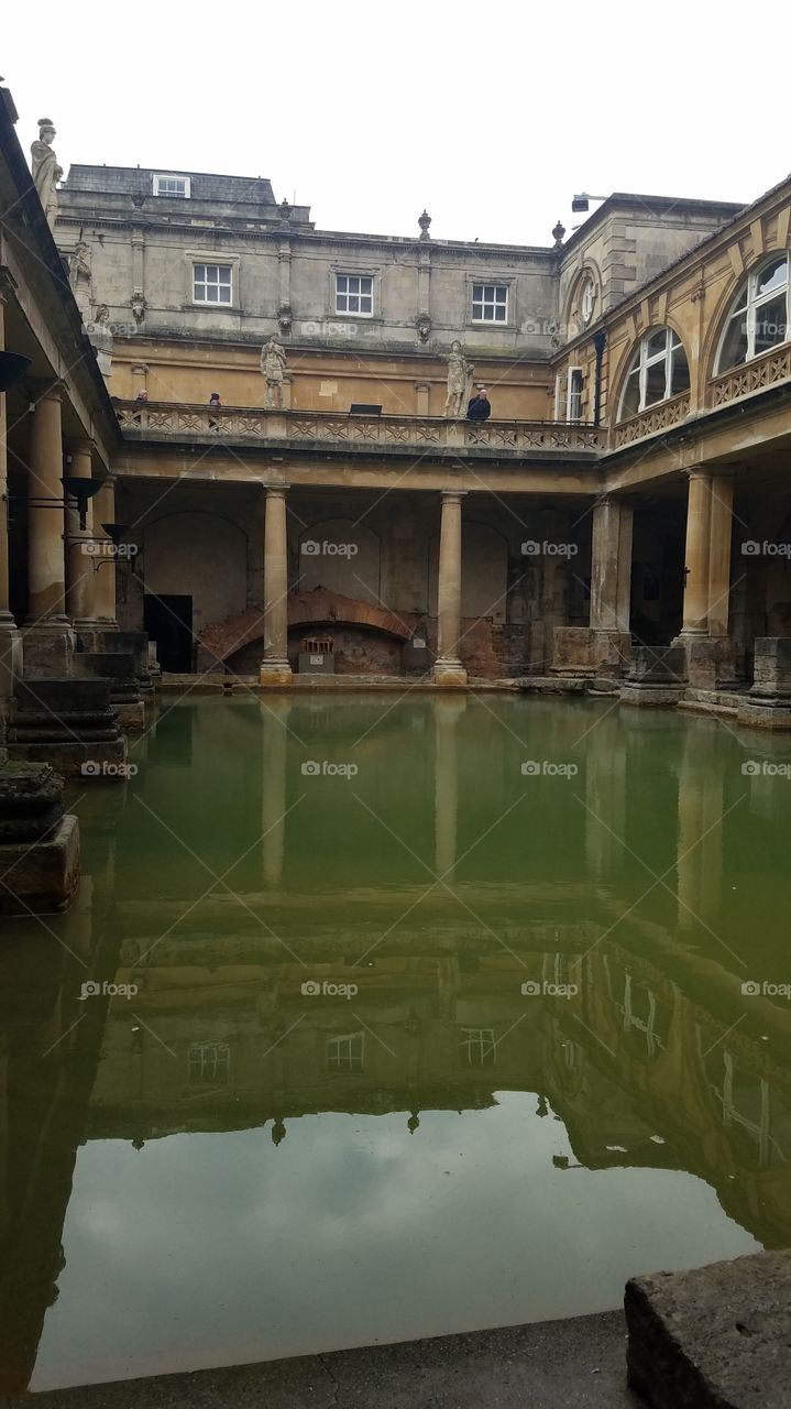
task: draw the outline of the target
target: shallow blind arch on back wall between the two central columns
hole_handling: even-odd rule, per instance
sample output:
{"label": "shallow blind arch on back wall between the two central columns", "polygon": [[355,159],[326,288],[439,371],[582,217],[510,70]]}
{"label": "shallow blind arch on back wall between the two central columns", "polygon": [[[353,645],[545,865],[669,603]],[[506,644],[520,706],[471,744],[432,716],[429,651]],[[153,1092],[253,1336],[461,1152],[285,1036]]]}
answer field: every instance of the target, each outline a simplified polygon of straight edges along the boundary
{"label": "shallow blind arch on back wall between the two central columns", "polygon": [[360,602],[379,603],[381,541],[353,519],[319,519],[298,538],[300,593],[324,589]]}

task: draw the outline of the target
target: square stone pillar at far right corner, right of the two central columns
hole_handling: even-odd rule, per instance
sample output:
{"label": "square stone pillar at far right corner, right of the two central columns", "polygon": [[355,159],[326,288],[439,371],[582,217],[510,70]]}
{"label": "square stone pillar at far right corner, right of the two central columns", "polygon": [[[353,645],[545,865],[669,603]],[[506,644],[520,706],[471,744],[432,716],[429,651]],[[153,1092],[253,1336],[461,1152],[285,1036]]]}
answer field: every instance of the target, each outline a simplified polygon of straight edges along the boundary
{"label": "square stone pillar at far right corner, right of the two central columns", "polygon": [[632,504],[604,496],[593,511],[591,659],[600,672],[621,672],[629,657]]}

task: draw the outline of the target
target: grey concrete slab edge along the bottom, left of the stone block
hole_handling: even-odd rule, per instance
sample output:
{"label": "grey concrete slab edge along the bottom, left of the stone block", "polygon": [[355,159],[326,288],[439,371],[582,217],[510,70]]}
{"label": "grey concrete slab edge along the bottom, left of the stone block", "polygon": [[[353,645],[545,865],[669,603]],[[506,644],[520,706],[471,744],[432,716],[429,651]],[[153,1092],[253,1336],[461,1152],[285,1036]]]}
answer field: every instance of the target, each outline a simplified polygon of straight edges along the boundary
{"label": "grey concrete slab edge along the bottom, left of the stone block", "polygon": [[640,1409],[622,1312],[0,1399],[1,1409]]}

